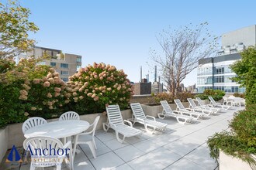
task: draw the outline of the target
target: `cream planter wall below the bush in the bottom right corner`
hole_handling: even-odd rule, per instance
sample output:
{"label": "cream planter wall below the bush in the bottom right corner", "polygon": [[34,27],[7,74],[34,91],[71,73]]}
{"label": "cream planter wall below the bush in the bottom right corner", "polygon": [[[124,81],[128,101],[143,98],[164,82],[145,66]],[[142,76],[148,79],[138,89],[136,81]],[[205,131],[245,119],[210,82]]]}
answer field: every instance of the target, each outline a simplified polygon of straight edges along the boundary
{"label": "cream planter wall below the bush in the bottom right corner", "polygon": [[252,170],[247,162],[243,162],[239,158],[234,158],[220,151],[220,170]]}

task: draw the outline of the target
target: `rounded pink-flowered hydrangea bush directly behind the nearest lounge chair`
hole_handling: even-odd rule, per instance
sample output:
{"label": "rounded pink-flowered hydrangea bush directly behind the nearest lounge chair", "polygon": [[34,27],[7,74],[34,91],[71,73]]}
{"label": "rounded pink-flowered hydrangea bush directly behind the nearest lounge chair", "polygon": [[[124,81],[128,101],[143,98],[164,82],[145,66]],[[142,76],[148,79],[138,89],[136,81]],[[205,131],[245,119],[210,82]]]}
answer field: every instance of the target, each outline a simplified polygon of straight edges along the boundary
{"label": "rounded pink-flowered hydrangea bush directly behind the nearest lounge chair", "polygon": [[81,68],[67,82],[65,103],[79,114],[99,113],[109,104],[128,107],[133,87],[123,70],[105,63],[94,63]]}

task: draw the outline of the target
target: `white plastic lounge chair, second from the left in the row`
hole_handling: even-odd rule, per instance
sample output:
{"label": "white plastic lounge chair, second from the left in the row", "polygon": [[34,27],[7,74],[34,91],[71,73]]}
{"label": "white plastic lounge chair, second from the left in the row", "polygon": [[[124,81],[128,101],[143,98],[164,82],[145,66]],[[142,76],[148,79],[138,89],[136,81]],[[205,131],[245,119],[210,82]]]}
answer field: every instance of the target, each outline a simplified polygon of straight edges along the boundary
{"label": "white plastic lounge chair, second from the left in the row", "polygon": [[[144,127],[147,132],[153,134],[154,131],[164,131],[167,124],[163,124],[159,121],[156,121],[155,117],[152,116],[145,116],[144,110],[142,109],[140,103],[134,103],[130,104],[130,107],[133,110],[133,117],[131,118],[130,121],[133,121],[133,124],[136,122],[140,124],[144,124]],[[150,119],[151,120],[150,120]],[[150,130],[153,129],[153,130]]]}

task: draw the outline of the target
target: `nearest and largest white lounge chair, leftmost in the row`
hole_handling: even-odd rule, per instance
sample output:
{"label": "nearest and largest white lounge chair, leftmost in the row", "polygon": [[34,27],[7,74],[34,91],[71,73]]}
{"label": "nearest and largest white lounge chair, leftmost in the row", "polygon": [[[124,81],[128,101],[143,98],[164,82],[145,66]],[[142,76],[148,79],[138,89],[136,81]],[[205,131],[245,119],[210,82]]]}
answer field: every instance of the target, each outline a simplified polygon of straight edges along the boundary
{"label": "nearest and largest white lounge chair, leftmost in the row", "polygon": [[[109,105],[106,107],[108,114],[108,121],[103,123],[104,131],[108,131],[109,128],[112,128],[116,131],[117,141],[123,143],[125,138],[138,136],[142,134],[142,131],[133,128],[133,124],[130,121],[123,121],[123,117],[119,108],[119,105]],[[126,122],[129,125],[124,124]],[[123,135],[123,138],[119,138],[119,134]]]}

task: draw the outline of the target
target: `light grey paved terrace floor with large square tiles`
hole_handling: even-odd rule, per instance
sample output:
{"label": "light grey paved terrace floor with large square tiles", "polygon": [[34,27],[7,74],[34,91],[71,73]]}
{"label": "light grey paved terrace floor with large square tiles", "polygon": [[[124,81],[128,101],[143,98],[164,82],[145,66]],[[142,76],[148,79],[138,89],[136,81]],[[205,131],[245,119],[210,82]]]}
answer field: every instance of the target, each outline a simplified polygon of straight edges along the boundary
{"label": "light grey paved terrace floor with large square tiles", "polygon": [[[178,124],[173,118],[158,119],[168,124],[163,134],[144,132],[140,138],[126,138],[123,144],[116,140],[112,130],[107,133],[96,131],[97,158],[93,158],[88,145],[80,145],[81,152],[75,156],[74,169],[216,169],[216,162],[209,157],[206,140],[212,134],[228,129],[228,121],[240,109],[244,108],[233,107],[193,124]],[[135,124],[134,128],[144,130],[140,124]],[[4,161],[5,158],[0,169],[29,169],[29,164],[13,166]]]}

